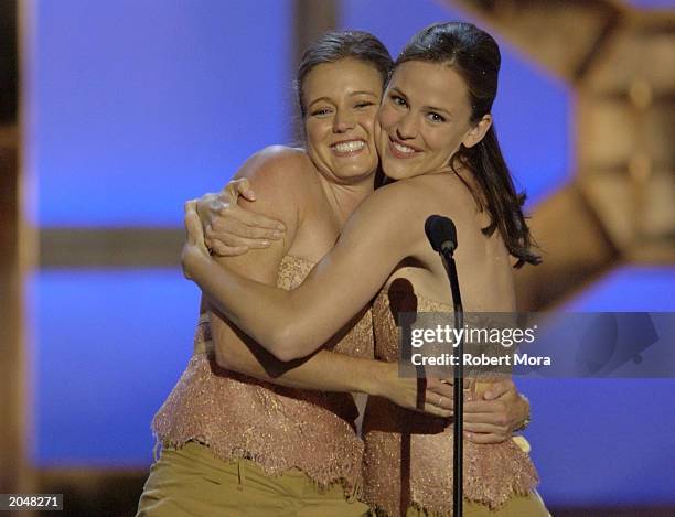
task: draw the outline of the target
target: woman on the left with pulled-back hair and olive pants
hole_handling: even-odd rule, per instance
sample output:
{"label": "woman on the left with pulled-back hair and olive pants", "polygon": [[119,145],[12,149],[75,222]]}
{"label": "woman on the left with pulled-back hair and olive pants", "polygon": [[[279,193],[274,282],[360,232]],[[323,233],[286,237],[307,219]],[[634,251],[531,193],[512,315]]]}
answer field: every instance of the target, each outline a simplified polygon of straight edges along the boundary
{"label": "woman on the left with pulled-back hair and olive pants", "polygon": [[[373,191],[375,115],[389,67],[386,49],[367,33],[326,34],[308,50],[298,74],[307,148],[268,148],[242,168],[258,206],[285,220],[285,245],[227,259],[228,267],[291,289],[331,248]],[[364,514],[350,391],[409,408],[417,391],[395,365],[372,359],[366,303],[317,343],[326,349],[292,364],[206,309],[195,353],[153,420],[162,451],[138,515]],[[430,383],[428,391],[420,409],[449,416],[448,386]]]}

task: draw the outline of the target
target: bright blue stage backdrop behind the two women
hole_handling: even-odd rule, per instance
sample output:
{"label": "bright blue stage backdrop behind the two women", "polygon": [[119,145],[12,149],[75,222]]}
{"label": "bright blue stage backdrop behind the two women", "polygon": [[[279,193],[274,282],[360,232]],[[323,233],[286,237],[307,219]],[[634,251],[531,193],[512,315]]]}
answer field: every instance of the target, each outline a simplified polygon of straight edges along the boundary
{"label": "bright blue stage backdrop behind the two women", "polygon": [[[343,0],[340,25],[398,53],[430,0]],[[634,2],[636,3],[636,2]],[[255,150],[290,136],[290,0],[36,1],[26,163],[38,223],[178,226]],[[572,173],[572,95],[505,42],[495,120],[531,200]],[[574,310],[675,310],[675,270],[623,268]],[[29,288],[39,465],[151,462],[150,420],[192,348],[178,269],[42,270]],[[550,504],[675,503],[672,380],[528,380],[527,432]]]}

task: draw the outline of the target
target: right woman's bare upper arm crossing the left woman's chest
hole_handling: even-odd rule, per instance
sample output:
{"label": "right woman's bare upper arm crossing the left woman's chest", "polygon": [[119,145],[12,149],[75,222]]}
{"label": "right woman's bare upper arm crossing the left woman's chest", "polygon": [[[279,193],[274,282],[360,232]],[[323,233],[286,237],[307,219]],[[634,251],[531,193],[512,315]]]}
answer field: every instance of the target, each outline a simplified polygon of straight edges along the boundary
{"label": "right woman's bare upper arm crossing the left woman's chest", "polygon": [[409,196],[408,185],[392,184],[366,198],[335,247],[291,291],[287,313],[292,324],[285,337],[293,348],[290,356],[306,355],[328,341],[373,299],[424,238],[424,216]]}

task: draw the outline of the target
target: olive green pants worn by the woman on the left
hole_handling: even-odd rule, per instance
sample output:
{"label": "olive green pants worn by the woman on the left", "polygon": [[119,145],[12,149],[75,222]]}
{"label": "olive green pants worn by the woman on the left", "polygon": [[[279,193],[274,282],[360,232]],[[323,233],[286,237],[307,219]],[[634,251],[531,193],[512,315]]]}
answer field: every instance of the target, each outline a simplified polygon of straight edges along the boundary
{"label": "olive green pants worn by the woman on the left", "polygon": [[189,442],[161,452],[137,517],[356,517],[367,511],[339,484],[320,491],[297,468],[268,476],[249,460],[224,462],[207,446]]}

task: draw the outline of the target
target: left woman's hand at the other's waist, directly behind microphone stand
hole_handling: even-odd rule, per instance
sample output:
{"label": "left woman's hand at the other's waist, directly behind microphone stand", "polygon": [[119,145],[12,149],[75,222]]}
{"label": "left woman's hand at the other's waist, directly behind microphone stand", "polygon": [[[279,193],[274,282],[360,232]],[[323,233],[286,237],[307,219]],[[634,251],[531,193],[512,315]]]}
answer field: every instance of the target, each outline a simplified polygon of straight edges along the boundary
{"label": "left woman's hand at the other's waist, directly behind microphone stand", "polygon": [[400,377],[397,363],[383,363],[384,375],[369,395],[389,399],[397,406],[436,417],[452,417],[452,381],[428,377]]}

